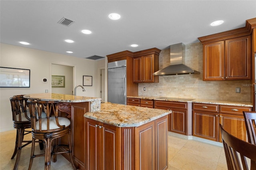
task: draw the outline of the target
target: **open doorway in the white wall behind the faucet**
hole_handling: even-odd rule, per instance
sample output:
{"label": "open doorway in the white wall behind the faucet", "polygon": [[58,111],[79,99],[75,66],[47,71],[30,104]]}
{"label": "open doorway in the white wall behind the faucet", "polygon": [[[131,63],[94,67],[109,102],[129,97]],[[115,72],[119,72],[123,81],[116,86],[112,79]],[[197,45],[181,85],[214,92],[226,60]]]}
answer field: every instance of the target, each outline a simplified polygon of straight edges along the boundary
{"label": "open doorway in the white wall behind the faucet", "polygon": [[52,87],[52,93],[73,95],[74,66],[53,63],[51,66],[51,75],[64,76],[64,87]]}

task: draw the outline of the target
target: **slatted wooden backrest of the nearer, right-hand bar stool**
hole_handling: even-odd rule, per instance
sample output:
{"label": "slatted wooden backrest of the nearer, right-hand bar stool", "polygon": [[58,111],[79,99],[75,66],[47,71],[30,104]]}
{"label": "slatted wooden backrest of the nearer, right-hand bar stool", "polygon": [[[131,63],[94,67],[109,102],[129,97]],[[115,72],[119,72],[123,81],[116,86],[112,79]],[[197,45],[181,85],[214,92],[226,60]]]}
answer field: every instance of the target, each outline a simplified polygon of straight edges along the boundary
{"label": "slatted wooden backrest of the nearer, right-hand bar stool", "polygon": [[[32,131],[53,132],[56,128],[65,127],[59,124],[58,103],[59,101],[28,100]],[[46,118],[42,118],[43,112],[46,113]]]}

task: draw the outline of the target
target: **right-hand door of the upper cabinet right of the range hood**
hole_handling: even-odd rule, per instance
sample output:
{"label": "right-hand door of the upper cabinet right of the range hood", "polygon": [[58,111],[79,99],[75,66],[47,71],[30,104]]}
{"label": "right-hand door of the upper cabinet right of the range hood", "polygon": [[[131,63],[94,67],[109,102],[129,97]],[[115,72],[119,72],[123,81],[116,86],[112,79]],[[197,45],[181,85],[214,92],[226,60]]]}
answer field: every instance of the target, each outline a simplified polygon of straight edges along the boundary
{"label": "right-hand door of the upper cabinet right of the range hood", "polygon": [[225,79],[251,79],[251,36],[225,41]]}

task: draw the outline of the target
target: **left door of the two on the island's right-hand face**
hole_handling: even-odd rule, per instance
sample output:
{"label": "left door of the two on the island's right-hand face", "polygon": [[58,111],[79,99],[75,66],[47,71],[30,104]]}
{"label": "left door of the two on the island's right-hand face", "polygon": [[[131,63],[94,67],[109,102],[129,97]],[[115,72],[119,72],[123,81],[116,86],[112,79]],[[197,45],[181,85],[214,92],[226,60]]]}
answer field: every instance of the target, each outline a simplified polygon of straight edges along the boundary
{"label": "left door of the two on the island's right-hand face", "polygon": [[155,122],[135,129],[135,170],[155,169]]}

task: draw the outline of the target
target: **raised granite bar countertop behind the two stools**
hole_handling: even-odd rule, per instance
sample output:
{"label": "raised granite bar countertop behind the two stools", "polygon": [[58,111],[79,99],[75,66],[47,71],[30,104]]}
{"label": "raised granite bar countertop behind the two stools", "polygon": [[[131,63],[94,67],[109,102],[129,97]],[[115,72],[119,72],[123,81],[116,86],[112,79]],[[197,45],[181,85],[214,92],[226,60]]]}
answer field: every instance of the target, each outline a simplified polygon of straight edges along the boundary
{"label": "raised granite bar countertop behind the two stools", "polygon": [[42,101],[60,101],[60,102],[70,102],[70,103],[101,101],[100,98],[95,98],[95,97],[64,95],[64,94],[57,94],[57,93],[28,94],[28,95],[24,95],[24,97],[28,99],[40,99]]}

